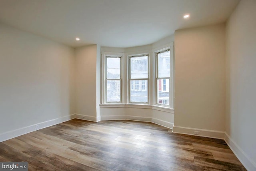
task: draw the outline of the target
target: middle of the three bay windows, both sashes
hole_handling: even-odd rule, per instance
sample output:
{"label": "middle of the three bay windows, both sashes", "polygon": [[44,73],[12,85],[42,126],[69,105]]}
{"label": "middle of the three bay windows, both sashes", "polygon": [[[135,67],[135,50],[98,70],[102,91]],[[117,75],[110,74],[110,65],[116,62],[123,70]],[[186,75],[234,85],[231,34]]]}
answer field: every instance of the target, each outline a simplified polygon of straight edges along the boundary
{"label": "middle of the three bay windows, both sashes", "polygon": [[148,103],[148,55],[131,56],[129,64],[129,101]]}

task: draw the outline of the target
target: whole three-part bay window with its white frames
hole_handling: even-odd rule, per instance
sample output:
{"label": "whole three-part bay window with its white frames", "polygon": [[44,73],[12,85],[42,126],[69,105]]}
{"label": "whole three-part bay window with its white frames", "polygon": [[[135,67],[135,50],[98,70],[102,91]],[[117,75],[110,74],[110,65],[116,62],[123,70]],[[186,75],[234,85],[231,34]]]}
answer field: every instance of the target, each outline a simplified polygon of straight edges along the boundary
{"label": "whole three-part bay window with its white frames", "polygon": [[101,103],[174,108],[173,47],[171,43],[151,52],[102,51]]}

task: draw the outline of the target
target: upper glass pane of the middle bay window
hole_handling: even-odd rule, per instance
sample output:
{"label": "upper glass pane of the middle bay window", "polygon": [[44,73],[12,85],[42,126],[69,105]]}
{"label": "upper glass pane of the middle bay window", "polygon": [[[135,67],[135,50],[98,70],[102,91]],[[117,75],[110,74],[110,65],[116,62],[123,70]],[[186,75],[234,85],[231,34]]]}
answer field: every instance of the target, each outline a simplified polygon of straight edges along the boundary
{"label": "upper glass pane of the middle bay window", "polygon": [[148,56],[132,57],[131,60],[131,79],[148,78]]}

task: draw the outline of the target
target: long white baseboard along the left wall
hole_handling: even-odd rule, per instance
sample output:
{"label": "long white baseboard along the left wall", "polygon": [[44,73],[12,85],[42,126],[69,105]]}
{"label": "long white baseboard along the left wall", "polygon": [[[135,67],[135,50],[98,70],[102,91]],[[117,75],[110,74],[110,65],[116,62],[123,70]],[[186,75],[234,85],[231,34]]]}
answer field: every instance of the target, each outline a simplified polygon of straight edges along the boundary
{"label": "long white baseboard along the left wall", "polygon": [[52,125],[56,125],[58,123],[69,121],[71,119],[74,119],[74,114],[59,117],[59,118],[56,118],[56,119],[51,119],[49,121],[44,121],[44,122],[41,122],[41,123],[36,123],[36,124],[33,124],[33,125],[29,125],[27,127],[22,127],[22,128],[15,129],[15,130],[12,130],[12,131],[8,131],[8,132],[0,134],[0,142],[18,137],[20,135],[24,135],[26,133],[36,131],[36,125],[38,125],[37,130],[39,130],[39,129],[43,129],[43,128],[46,128],[46,127],[50,127]]}

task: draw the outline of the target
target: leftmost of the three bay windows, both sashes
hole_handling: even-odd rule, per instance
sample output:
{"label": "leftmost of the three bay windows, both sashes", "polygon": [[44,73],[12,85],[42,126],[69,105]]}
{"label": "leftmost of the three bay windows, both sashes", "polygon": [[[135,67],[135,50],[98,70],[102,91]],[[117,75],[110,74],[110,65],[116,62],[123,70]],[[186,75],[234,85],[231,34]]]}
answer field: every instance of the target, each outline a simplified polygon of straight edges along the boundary
{"label": "leftmost of the three bay windows, both sashes", "polygon": [[106,102],[121,102],[121,57],[106,57]]}

